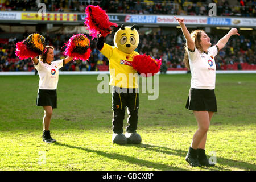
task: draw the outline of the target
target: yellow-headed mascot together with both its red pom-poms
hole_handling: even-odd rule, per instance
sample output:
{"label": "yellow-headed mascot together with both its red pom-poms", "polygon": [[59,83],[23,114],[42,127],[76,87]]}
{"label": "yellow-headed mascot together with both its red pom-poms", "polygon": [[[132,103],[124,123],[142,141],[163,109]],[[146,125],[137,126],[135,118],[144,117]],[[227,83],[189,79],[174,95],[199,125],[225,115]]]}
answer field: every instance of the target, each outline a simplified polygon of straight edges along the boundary
{"label": "yellow-headed mascot together with both its red pom-poms", "polygon": [[[150,56],[139,55],[134,51],[139,44],[139,27],[137,25],[124,26],[115,32],[114,46],[104,43],[104,38],[110,34],[110,26],[117,24],[109,22],[108,15],[99,6],[89,5],[85,9],[85,26],[92,39],[97,39],[98,50],[109,59],[110,83],[113,86],[113,143],[139,144],[142,139],[136,132],[138,124],[139,93],[138,73],[148,77],[157,73],[161,60]],[[149,74],[148,74],[149,73]],[[125,111],[129,114],[126,133],[123,134],[123,119]]]}

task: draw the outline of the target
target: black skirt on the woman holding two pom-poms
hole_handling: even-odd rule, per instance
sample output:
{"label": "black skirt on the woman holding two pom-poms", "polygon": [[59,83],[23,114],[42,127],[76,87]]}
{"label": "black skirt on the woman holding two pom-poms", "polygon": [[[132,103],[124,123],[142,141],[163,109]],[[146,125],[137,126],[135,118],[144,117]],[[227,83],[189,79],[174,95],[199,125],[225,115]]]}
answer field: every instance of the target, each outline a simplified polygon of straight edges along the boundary
{"label": "black skirt on the woman holding two pom-poms", "polygon": [[57,108],[57,90],[38,90],[36,106],[52,106]]}

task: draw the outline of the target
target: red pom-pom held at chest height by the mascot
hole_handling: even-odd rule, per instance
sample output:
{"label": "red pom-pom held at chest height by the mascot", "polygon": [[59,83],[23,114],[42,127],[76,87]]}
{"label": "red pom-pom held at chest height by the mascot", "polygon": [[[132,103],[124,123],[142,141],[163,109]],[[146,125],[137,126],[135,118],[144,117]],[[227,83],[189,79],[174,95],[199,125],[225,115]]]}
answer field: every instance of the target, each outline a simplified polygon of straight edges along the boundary
{"label": "red pom-pom held at chest height by the mascot", "polygon": [[143,77],[154,76],[159,72],[162,65],[162,59],[152,59],[147,55],[137,55],[133,57],[132,67],[142,74]]}

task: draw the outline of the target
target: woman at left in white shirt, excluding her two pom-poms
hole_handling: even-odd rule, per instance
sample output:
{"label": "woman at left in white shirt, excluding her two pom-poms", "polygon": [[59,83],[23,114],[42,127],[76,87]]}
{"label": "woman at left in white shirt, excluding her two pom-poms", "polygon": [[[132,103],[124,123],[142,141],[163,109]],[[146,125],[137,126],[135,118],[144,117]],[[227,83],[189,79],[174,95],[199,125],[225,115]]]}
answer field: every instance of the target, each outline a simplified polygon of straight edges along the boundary
{"label": "woman at left in white shirt, excluding her two pom-poms", "polygon": [[39,59],[32,58],[35,68],[39,74],[38,97],[36,98],[36,106],[43,106],[43,141],[46,143],[56,142],[51,137],[49,125],[52,118],[53,109],[57,108],[57,84],[59,81],[59,69],[73,60],[73,57],[66,57],[62,60],[53,61],[54,48],[46,46]]}

